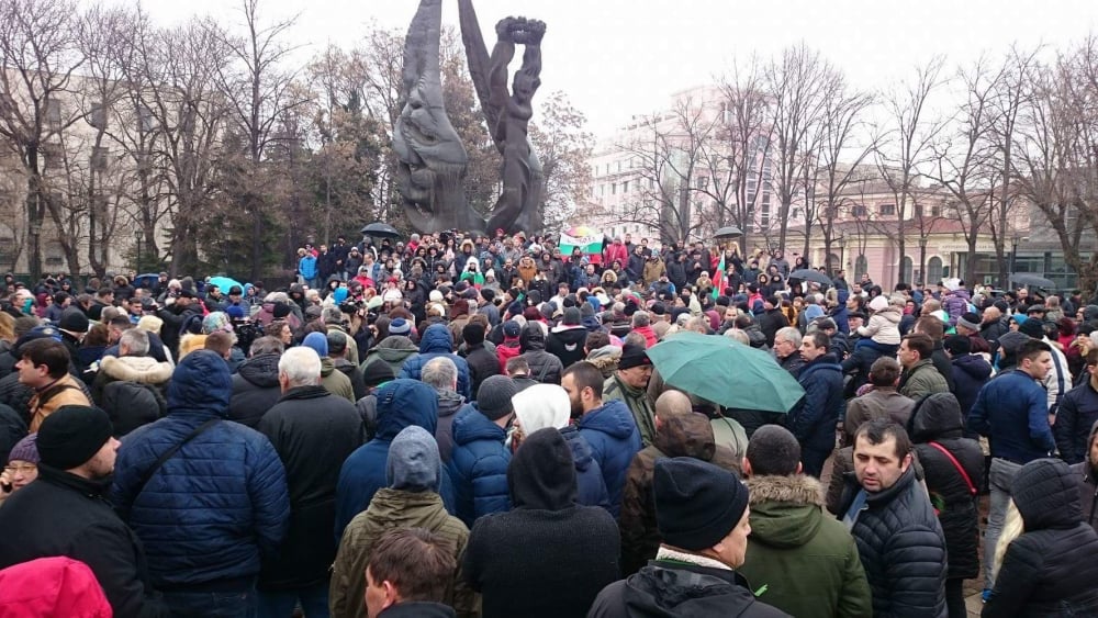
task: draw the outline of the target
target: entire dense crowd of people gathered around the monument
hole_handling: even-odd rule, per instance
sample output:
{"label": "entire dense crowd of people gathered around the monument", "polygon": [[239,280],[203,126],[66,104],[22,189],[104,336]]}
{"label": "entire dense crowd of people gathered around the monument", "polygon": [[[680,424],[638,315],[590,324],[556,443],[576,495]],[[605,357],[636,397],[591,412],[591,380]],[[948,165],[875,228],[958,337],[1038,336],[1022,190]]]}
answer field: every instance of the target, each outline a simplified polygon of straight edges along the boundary
{"label": "entire dense crowd of people gathered around the monument", "polygon": [[[1098,300],[628,235],[298,254],[5,278],[0,614],[1098,616]],[[804,396],[679,389],[681,333]]]}

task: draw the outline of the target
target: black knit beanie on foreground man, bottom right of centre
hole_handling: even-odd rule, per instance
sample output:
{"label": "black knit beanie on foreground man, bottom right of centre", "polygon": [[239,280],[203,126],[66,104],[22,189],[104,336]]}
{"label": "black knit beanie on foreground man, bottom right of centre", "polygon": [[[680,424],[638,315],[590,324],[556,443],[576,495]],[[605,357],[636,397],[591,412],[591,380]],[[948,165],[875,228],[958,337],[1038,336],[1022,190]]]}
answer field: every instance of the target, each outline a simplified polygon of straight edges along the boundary
{"label": "black knit beanie on foreground man, bottom right of centre", "polygon": [[748,488],[735,474],[692,457],[658,459],[652,495],[663,542],[687,551],[720,542],[748,508]]}

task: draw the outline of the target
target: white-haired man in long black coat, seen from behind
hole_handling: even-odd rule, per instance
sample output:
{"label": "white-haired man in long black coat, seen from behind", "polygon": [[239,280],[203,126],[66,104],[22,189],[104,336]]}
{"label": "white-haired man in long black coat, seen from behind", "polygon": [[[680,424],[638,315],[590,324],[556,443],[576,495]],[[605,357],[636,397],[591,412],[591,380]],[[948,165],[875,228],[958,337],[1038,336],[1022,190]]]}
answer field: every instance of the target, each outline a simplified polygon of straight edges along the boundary
{"label": "white-haired man in long black coat, seen from behind", "polygon": [[362,443],[362,417],[321,385],[321,358],[312,348],[287,350],[278,370],[282,397],[256,429],[285,467],[291,516],[278,557],[264,562],[259,614],[288,616],[299,602],[306,614],[320,614],[327,607],[328,568],[336,555],[332,527],[339,467]]}

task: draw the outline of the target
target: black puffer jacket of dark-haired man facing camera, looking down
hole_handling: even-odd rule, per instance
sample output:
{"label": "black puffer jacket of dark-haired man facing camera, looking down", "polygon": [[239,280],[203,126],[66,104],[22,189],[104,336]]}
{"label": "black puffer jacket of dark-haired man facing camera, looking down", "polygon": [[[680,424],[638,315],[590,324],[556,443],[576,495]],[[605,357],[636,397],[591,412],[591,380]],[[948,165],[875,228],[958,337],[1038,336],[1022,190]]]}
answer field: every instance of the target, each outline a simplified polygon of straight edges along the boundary
{"label": "black puffer jacket of dark-haired man facing camera, looking down", "polygon": [[[861,486],[853,474],[841,518]],[[893,486],[869,494],[850,530],[873,593],[874,616],[944,618],[945,535],[909,465]]]}

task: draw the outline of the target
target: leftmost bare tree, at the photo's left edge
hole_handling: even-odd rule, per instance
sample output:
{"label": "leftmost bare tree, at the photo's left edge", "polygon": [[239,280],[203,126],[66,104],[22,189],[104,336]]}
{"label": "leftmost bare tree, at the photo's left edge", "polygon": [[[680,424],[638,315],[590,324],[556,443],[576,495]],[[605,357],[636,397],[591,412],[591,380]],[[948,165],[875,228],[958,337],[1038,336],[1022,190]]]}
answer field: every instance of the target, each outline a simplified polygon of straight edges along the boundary
{"label": "leftmost bare tree, at the photo's left edge", "polygon": [[42,224],[48,203],[44,150],[59,159],[57,136],[82,117],[64,104],[74,71],[83,64],[75,15],[68,0],[0,1],[0,137],[22,164],[22,223],[35,280],[42,273]]}

